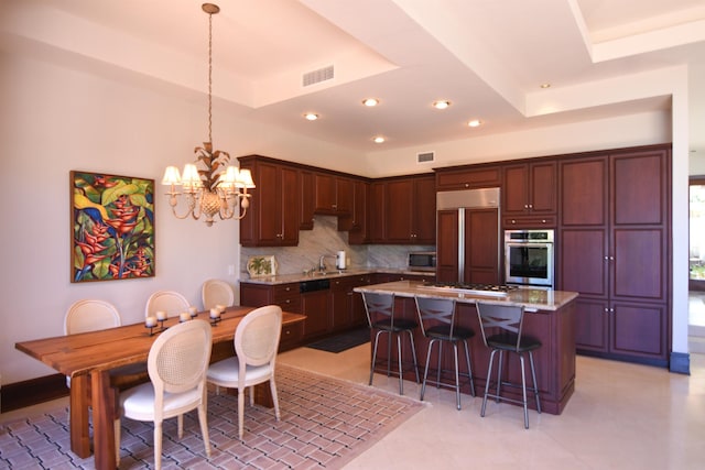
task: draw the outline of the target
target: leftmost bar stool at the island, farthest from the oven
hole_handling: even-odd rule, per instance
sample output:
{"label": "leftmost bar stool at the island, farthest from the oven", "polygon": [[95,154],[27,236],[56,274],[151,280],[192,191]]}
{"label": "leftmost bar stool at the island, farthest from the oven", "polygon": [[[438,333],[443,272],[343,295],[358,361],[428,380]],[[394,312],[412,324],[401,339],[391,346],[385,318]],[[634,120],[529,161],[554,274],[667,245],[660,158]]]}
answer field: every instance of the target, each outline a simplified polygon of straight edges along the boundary
{"label": "leftmost bar stool at the island, farthest from the oven", "polygon": [[372,362],[370,364],[370,385],[372,384],[372,378],[375,375],[375,369],[377,367],[377,347],[379,345],[379,337],[382,334],[388,335],[387,341],[387,376],[390,376],[391,371],[391,353],[392,353],[392,339],[397,338],[397,360],[399,363],[399,394],[404,394],[404,379],[403,379],[403,363],[401,354],[401,336],[403,334],[409,335],[409,341],[411,343],[411,354],[413,359],[414,373],[416,374],[416,383],[419,383],[419,365],[416,363],[416,347],[414,346],[413,330],[419,327],[415,321],[404,318],[397,318],[394,316],[394,295],[393,294],[378,294],[378,293],[362,293],[362,299],[365,300],[365,311],[367,313],[367,323],[372,331],[377,331],[375,335],[375,346],[372,348]]}

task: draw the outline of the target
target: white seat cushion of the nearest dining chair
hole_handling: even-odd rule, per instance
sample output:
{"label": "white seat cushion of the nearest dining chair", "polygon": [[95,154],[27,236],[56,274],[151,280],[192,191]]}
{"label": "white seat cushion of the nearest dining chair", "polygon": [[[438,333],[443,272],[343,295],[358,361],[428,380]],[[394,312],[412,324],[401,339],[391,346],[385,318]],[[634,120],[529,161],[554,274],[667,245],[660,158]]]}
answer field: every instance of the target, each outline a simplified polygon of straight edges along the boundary
{"label": "white seat cushion of the nearest dining chair", "polygon": [[[169,418],[184,413],[184,407],[195,408],[200,401],[197,389],[184,393],[164,393],[164,417]],[[120,406],[128,418],[154,420],[154,387],[152,382],[143,383],[120,393]]]}

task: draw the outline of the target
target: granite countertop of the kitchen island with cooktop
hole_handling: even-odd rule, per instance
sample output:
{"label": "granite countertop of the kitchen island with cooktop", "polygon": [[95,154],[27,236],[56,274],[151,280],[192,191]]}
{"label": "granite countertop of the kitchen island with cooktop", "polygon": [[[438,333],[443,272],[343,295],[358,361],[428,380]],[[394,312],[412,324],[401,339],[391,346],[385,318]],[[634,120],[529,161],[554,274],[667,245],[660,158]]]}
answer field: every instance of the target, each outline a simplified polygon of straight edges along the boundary
{"label": "granite countertop of the kitchen island with cooktop", "polygon": [[538,288],[519,288],[510,291],[506,296],[465,294],[424,286],[419,281],[397,281],[355,287],[355,292],[372,292],[394,294],[401,297],[454,298],[457,302],[473,303],[482,300],[488,304],[523,306],[528,311],[557,310],[577,297],[575,292],[546,291]]}

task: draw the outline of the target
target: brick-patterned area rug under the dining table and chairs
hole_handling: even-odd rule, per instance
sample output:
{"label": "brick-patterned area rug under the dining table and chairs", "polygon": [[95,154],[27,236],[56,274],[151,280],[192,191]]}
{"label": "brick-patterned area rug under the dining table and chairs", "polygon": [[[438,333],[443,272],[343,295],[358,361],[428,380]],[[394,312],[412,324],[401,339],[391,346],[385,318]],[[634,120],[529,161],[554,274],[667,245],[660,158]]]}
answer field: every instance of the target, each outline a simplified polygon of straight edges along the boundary
{"label": "brick-patterned area rug under the dining table and chairs", "polygon": [[[195,412],[164,423],[164,469],[339,469],[423,408],[412,398],[280,364],[281,420],[273,409],[246,405],[240,441],[237,396],[208,396],[212,453],[206,458]],[[37,412],[39,413],[39,412]],[[120,469],[153,468],[151,423],[122,419]],[[0,468],[93,469],[70,451],[68,408],[0,426]]]}

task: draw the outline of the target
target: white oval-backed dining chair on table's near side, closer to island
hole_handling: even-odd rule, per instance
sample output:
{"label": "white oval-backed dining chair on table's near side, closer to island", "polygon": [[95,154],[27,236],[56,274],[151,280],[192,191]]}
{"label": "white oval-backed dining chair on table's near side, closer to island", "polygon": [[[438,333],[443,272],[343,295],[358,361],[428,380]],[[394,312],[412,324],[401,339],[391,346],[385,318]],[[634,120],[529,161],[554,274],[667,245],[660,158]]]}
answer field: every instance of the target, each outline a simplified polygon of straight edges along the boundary
{"label": "white oval-backed dining chair on table's near side, closer to island", "polygon": [[247,314],[235,331],[236,357],[208,368],[207,381],[214,385],[238,390],[238,434],[245,431],[245,389],[250,387],[250,406],[254,404],[253,386],[269,381],[274,415],[280,418],[274,365],[282,332],[282,309],[267,305]]}

